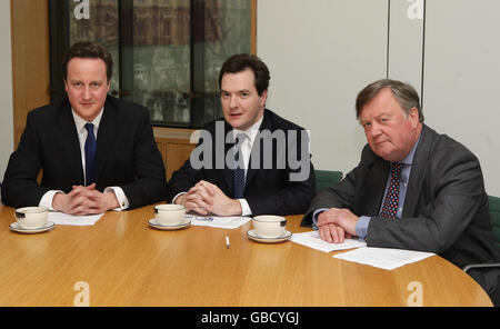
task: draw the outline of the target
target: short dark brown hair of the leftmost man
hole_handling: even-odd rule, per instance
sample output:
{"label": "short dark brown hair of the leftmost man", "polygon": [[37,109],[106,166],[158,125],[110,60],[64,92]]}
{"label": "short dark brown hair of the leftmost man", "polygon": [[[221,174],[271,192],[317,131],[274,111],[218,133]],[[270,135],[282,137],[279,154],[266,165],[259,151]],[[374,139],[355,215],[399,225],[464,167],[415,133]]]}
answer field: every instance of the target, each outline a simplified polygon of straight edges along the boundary
{"label": "short dark brown hair of the leftmost man", "polygon": [[108,83],[111,81],[111,77],[113,76],[113,59],[104,47],[89,41],[77,42],[71,46],[62,59],[62,79],[64,81],[68,78],[68,63],[73,58],[102,59],[106,63]]}

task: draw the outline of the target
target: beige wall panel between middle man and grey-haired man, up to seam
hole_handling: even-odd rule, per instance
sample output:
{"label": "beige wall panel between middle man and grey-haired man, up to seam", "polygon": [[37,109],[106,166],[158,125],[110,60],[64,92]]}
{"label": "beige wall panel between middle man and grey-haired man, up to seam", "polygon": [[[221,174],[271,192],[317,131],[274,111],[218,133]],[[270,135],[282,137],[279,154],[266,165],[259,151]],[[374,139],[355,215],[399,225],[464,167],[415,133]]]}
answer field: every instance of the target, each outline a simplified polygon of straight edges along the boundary
{"label": "beige wall panel between middle man and grey-haired man, up to seam", "polygon": [[310,130],[318,169],[347,172],[366,143],[356,93],[387,72],[387,0],[258,1],[268,108]]}

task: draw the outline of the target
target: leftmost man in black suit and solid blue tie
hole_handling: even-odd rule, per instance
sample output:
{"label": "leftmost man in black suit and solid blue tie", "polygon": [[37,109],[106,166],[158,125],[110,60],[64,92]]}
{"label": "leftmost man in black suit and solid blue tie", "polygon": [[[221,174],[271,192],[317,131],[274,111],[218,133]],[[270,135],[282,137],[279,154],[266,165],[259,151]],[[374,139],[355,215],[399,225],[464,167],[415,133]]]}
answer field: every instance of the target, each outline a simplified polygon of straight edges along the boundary
{"label": "leftmost man in black suit and solid blue tie", "polygon": [[68,98],[28,114],[6,170],[4,205],[88,215],[163,199],[164,167],[149,112],[108,96],[111,76],[106,49],[71,47],[63,61]]}

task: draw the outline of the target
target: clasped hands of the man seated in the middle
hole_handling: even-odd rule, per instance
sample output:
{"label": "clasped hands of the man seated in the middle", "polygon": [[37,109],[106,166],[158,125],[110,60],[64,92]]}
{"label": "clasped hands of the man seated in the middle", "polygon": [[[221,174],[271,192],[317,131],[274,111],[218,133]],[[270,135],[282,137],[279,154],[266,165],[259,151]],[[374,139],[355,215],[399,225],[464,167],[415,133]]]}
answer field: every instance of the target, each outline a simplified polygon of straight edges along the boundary
{"label": "clasped hands of the man seated in the middle", "polygon": [[178,197],[176,203],[183,205],[186,212],[192,210],[203,216],[209,213],[217,216],[241,215],[240,201],[229,198],[218,186],[204,180],[199,181],[186,195]]}

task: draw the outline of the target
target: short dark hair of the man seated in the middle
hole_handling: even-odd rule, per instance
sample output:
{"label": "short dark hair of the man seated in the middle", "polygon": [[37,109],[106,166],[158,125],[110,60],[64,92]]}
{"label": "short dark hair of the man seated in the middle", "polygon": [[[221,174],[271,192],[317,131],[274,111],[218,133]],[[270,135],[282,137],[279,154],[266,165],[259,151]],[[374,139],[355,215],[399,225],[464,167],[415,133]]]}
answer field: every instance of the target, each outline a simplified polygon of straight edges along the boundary
{"label": "short dark hair of the man seated in the middle", "polygon": [[219,89],[222,86],[223,74],[239,73],[246,69],[252,70],[253,76],[256,76],[254,86],[257,93],[261,96],[262,92],[268,89],[269,80],[271,80],[269,69],[260,58],[248,53],[233,54],[224,61],[219,73]]}

